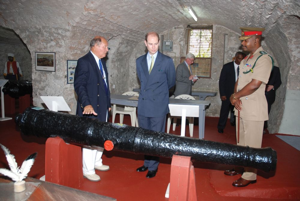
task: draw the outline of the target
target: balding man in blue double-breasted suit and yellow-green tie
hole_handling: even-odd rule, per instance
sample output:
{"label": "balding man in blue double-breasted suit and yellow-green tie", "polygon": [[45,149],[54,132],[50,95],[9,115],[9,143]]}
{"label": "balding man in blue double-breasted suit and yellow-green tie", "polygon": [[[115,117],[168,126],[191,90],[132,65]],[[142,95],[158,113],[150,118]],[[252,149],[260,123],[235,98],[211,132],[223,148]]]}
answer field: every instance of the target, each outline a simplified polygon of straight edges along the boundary
{"label": "balding man in blue double-breasted suit and yellow-green tie", "polygon": [[[138,122],[140,127],[165,132],[166,115],[169,113],[169,89],[175,85],[173,59],[158,51],[160,44],[156,32],[146,35],[145,45],[148,53],[136,60],[137,76],[141,91],[138,101]],[[145,155],[144,165],[138,172],[148,169],[147,178],[155,177],[159,157]]]}

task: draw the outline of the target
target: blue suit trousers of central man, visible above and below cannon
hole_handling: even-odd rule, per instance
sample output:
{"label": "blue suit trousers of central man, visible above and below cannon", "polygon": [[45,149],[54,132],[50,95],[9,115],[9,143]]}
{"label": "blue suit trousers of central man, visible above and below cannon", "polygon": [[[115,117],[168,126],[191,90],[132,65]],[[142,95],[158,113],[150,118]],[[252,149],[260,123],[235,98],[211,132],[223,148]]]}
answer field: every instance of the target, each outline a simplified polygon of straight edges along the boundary
{"label": "blue suit trousers of central man, visible above and below cannon", "polygon": [[[145,117],[138,115],[139,126],[151,131],[165,132],[166,115],[162,117]],[[148,167],[149,171],[157,170],[159,157],[145,155],[144,166]]]}

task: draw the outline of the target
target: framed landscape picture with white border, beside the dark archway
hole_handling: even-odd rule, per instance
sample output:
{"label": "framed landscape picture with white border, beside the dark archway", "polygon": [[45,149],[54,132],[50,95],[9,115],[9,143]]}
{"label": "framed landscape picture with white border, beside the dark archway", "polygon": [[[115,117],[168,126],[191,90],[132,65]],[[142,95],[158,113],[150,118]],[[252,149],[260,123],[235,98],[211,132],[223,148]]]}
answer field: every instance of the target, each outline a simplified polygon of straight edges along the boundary
{"label": "framed landscape picture with white border, beside the dark archway", "polygon": [[55,52],[35,52],[35,70],[55,72]]}

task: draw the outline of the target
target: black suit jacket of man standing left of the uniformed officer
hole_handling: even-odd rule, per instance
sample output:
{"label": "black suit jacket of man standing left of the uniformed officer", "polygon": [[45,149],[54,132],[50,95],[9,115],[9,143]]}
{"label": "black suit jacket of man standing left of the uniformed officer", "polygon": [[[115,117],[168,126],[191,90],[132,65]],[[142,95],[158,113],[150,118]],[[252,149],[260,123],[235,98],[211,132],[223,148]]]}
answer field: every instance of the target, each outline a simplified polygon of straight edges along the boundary
{"label": "black suit jacket of man standing left of the uniformed officer", "polygon": [[226,96],[227,99],[233,94],[235,85],[235,69],[233,62],[234,61],[231,61],[223,65],[219,79],[220,97]]}

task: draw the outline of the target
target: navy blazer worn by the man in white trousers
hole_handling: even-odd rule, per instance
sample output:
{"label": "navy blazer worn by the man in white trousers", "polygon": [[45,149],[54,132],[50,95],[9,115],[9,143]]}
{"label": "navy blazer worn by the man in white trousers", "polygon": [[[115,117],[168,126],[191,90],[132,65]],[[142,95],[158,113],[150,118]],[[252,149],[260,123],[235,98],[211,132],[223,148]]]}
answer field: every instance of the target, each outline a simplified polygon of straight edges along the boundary
{"label": "navy blazer worn by the man in white trousers", "polygon": [[106,121],[107,110],[111,107],[110,89],[106,63],[103,59],[101,63],[106,74],[107,95],[101,72],[92,53],[88,52],[77,61],[74,73],[74,89],[78,98],[76,115],[83,116],[83,108],[87,105],[91,105],[98,115],[84,116]]}

